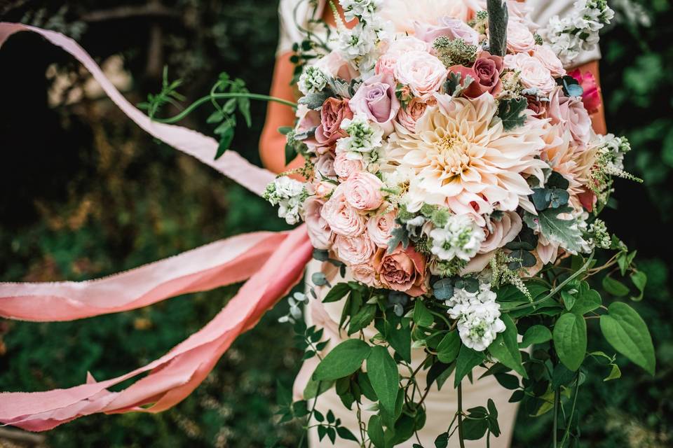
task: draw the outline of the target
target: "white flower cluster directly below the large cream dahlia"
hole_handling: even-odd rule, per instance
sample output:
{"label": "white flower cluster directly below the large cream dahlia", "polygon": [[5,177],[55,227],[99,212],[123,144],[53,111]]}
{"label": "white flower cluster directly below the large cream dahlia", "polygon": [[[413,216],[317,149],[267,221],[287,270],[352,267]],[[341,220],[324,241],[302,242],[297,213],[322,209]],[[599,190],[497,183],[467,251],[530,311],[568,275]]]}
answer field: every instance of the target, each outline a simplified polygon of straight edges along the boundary
{"label": "white flower cluster directly below the large cream dahlia", "polygon": [[477,255],[486,238],[484,231],[467,215],[454,215],[449,218],[444,228],[436,228],[430,232],[433,254],[440,260],[450,261],[458,257],[470,261]]}

